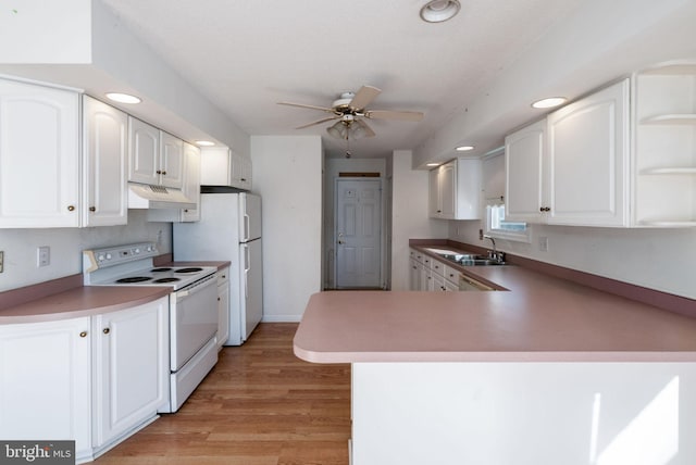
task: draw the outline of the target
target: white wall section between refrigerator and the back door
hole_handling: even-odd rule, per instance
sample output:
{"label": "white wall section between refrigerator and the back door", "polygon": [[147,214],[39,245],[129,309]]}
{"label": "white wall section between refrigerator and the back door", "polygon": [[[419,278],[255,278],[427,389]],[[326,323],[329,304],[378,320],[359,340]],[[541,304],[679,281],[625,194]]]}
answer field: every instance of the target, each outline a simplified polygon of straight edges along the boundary
{"label": "white wall section between refrigerator and the back door", "polygon": [[321,138],[252,136],[251,160],[263,199],[263,321],[298,322],[321,290]]}

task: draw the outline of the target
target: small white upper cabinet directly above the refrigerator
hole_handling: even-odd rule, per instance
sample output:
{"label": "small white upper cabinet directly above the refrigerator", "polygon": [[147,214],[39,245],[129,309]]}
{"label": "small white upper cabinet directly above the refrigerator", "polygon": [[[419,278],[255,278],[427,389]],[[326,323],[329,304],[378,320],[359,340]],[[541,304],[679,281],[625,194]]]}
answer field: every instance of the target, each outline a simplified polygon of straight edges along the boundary
{"label": "small white upper cabinet directly above the refrigerator", "polygon": [[200,184],[251,190],[251,160],[226,147],[201,150]]}

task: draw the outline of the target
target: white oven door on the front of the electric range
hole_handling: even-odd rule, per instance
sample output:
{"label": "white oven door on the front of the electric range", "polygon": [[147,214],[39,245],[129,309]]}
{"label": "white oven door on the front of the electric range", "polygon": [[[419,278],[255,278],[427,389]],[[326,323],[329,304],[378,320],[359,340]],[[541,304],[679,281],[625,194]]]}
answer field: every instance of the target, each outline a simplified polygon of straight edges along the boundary
{"label": "white oven door on the front of the electric range", "polygon": [[172,372],[177,372],[217,332],[217,280],[210,275],[171,296]]}

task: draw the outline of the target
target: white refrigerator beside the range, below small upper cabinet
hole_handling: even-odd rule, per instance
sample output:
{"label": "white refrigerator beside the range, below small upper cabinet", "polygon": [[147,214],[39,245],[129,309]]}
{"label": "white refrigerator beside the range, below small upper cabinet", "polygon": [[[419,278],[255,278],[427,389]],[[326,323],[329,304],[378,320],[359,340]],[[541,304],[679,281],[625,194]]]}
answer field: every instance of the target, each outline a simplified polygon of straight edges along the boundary
{"label": "white refrigerator beside the range, below small upper cabinet", "polygon": [[201,193],[200,221],[173,226],[175,261],[229,261],[229,338],[240,345],[261,321],[261,197]]}

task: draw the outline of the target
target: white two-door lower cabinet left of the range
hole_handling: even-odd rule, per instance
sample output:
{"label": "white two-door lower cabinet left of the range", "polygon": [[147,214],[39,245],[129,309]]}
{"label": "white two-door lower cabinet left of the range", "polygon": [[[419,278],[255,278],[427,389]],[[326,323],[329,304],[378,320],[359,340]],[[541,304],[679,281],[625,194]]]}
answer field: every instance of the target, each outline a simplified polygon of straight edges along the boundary
{"label": "white two-door lower cabinet left of the range", "polygon": [[169,297],[127,310],[0,325],[0,438],[74,440],[94,460],[169,402]]}

